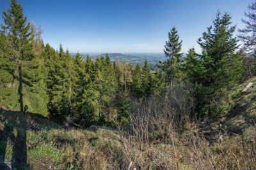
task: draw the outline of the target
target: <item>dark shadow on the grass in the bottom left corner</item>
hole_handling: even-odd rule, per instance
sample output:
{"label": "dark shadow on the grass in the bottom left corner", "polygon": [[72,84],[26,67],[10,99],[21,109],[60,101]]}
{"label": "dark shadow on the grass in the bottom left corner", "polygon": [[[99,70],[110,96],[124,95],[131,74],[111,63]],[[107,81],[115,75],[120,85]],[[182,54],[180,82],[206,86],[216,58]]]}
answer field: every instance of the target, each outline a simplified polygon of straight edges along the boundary
{"label": "dark shadow on the grass in the bottom left corner", "polygon": [[[0,170],[14,168],[18,170],[30,169],[27,163],[26,131],[28,129],[40,131],[42,127],[37,126],[35,122],[47,122],[48,118],[36,113],[3,110],[2,108],[0,108],[0,116],[4,121],[4,127],[2,129],[0,127]],[[11,162],[4,163],[4,159],[8,156],[6,155],[8,140],[12,141],[12,160]]]}

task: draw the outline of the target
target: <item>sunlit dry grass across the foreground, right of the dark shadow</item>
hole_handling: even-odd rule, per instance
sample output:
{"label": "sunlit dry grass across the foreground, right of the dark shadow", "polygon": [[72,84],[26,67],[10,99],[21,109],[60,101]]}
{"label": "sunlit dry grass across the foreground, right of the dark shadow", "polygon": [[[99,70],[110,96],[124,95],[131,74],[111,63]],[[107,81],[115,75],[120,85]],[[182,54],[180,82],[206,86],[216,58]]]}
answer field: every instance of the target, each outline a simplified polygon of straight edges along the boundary
{"label": "sunlit dry grass across the foreground, right of the dark shadow", "polygon": [[189,126],[154,143],[109,129],[28,131],[28,163],[31,169],[256,168],[256,127],[237,136],[224,134],[222,141],[211,144],[197,125]]}

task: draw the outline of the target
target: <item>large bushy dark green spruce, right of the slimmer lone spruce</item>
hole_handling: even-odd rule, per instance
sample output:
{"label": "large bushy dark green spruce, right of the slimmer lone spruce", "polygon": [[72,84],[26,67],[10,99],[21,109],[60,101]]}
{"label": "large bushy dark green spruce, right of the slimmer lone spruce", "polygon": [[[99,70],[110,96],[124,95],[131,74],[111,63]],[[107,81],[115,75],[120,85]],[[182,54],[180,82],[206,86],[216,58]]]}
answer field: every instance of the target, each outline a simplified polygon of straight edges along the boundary
{"label": "large bushy dark green spruce, right of the slimmer lone spruce", "polygon": [[[241,53],[237,52],[237,38],[233,36],[236,26],[231,25],[229,13],[217,12],[211,27],[198,39],[203,52],[198,59],[196,75],[198,107],[204,113],[218,113],[212,100],[221,105],[227,90],[236,84],[243,73]],[[218,108],[217,108],[218,109]]]}

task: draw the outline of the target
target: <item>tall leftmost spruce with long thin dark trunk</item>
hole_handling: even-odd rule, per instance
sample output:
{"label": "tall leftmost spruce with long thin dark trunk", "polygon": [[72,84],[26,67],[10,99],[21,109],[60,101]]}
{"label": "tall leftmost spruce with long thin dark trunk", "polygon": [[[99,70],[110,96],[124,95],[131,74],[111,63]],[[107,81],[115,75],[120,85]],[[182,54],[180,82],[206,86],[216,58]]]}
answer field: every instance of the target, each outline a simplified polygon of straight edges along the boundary
{"label": "tall leftmost spruce with long thin dark trunk", "polygon": [[12,45],[12,60],[13,60],[13,83],[17,78],[19,81],[19,103],[20,112],[24,111],[23,101],[23,81],[22,81],[22,64],[29,60],[31,55],[29,52],[32,48],[31,32],[29,32],[29,24],[27,17],[23,14],[23,9],[17,1],[12,0],[10,9],[3,11],[4,25],[1,25],[4,33],[8,35],[10,44]]}

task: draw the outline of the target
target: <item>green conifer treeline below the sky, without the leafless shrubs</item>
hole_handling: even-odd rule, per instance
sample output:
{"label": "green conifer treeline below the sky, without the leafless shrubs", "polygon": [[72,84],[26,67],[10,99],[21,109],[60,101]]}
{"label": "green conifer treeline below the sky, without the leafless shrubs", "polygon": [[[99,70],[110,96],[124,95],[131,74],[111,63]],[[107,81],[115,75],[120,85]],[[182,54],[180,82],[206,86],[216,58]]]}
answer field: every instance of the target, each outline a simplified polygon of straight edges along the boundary
{"label": "green conifer treeline below the sky, without the leafless shrubs", "polygon": [[44,45],[42,31],[28,22],[15,0],[3,11],[3,21],[1,106],[84,127],[111,125],[116,120],[125,125],[132,114],[132,101],[163,97],[179,85],[177,82],[193,85],[186,89],[193,91],[195,98],[195,110],[189,117],[218,115],[230,110],[228,90],[255,75],[255,65],[248,62],[254,56],[245,52],[248,46],[239,47],[230,14],[220,11],[198,39],[202,53],[191,48],[182,57],[182,41],[173,27],[164,46],[166,61],[159,62],[155,71],[150,70],[147,60],[142,67],[132,67],[118,59],[111,62],[108,53],[95,60],[90,56],[83,59],[79,53],[72,57],[61,45],[58,50]]}

